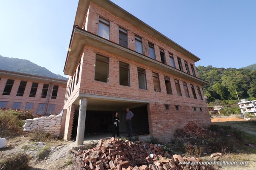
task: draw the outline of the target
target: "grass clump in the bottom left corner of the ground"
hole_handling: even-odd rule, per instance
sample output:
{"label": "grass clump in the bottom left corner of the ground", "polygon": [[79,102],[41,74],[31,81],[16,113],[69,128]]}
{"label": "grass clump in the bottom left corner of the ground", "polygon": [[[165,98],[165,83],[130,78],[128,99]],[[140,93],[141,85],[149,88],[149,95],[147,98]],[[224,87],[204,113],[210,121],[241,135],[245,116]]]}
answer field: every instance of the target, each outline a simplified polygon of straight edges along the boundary
{"label": "grass clump in the bottom left corner of the ground", "polygon": [[0,159],[1,170],[23,170],[28,166],[29,157],[26,153],[15,153]]}

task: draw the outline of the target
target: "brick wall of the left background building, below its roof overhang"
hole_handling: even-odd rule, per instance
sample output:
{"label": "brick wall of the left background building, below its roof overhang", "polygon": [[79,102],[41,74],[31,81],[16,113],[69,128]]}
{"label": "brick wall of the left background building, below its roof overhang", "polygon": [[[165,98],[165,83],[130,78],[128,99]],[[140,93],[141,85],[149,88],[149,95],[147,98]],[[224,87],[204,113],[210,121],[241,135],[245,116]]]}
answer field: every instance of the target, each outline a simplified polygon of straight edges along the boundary
{"label": "brick wall of the left background building, below its roof overhang", "polygon": [[[36,114],[37,109],[38,109],[38,103],[46,103],[47,102],[47,98],[41,98],[41,93],[42,93],[43,85],[50,84],[50,82],[41,82],[41,81],[37,81],[37,80],[31,81],[31,80],[26,80],[26,79],[17,79],[17,78],[13,78],[13,77],[0,77],[0,78],[1,78],[1,80],[0,80],[0,101],[7,102],[7,108],[12,108],[13,102],[21,102],[20,110],[25,110],[26,103],[34,103],[32,110],[33,110],[33,113]],[[14,81],[14,84],[12,87],[11,94],[3,95],[3,90],[6,86],[7,79],[14,79],[15,81]],[[20,81],[27,81],[26,88],[25,88],[23,96],[16,96],[17,90],[20,85]],[[29,97],[32,82],[38,82],[38,89],[37,89],[35,97]],[[53,85],[59,86],[56,99],[51,99]],[[51,91],[48,90],[48,93],[47,93],[47,96],[50,95],[48,108],[49,108],[49,104],[55,104],[55,113],[58,114],[63,109],[66,85],[63,83],[62,84],[53,83],[52,88],[51,88]],[[48,110],[48,108],[47,108],[47,110]]]}

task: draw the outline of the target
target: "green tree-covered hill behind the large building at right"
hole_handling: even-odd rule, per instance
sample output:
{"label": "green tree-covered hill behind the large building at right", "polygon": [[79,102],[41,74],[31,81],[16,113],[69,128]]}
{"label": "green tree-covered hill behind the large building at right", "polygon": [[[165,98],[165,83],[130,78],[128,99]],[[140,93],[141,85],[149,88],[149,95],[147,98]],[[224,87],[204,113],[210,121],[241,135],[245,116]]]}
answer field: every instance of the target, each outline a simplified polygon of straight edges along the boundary
{"label": "green tree-covered hill behind the large building at right", "polygon": [[208,102],[214,99],[256,98],[256,70],[247,68],[215,68],[211,65],[198,66],[198,75],[209,82],[205,85],[204,96]]}

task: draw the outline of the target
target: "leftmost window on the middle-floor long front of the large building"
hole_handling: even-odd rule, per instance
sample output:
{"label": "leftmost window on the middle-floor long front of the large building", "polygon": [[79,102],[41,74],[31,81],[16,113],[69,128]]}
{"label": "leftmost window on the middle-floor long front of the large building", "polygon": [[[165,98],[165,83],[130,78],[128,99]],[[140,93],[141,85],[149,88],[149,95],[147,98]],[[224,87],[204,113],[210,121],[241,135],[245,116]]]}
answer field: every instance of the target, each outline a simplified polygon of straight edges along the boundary
{"label": "leftmost window on the middle-floor long front of the large building", "polygon": [[108,82],[108,57],[96,56],[94,80]]}

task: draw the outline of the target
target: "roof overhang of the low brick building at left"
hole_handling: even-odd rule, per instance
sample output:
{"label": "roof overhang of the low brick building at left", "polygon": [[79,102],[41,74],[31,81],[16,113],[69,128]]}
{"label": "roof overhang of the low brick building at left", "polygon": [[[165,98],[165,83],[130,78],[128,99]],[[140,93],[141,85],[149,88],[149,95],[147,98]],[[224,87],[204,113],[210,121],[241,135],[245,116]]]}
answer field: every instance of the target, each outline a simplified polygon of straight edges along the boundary
{"label": "roof overhang of the low brick building at left", "polygon": [[50,77],[42,77],[42,76],[36,76],[32,74],[23,74],[18,72],[16,73],[13,71],[0,71],[0,77],[8,77],[13,79],[23,79],[23,80],[31,80],[31,81],[39,81],[39,82],[50,82],[55,84],[67,85],[67,80],[53,79]]}

